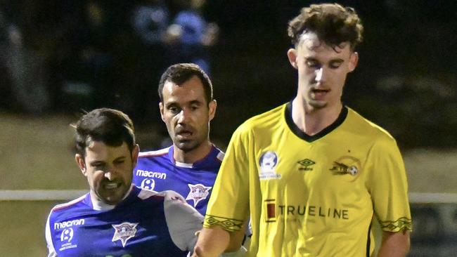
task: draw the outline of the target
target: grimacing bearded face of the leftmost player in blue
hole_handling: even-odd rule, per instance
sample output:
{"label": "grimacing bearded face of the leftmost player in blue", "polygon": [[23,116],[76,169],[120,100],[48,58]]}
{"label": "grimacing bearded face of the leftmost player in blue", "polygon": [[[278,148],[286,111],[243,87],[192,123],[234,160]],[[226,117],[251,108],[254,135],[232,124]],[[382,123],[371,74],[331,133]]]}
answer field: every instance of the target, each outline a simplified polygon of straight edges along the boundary
{"label": "grimacing bearded face of the leftmost player in blue", "polygon": [[131,186],[138,152],[138,145],[130,153],[125,142],[112,147],[100,141],[92,141],[86,147],[86,157],[76,154],[75,158],[92,193],[105,204],[116,205]]}

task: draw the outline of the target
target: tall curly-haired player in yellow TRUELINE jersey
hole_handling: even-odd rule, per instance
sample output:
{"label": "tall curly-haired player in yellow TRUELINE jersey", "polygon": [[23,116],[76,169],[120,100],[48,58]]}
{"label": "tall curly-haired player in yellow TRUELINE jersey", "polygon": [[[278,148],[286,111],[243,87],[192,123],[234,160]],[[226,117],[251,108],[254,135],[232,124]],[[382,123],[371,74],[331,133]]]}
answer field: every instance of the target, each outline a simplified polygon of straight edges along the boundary
{"label": "tall curly-haired player in yellow TRUELINE jersey", "polygon": [[411,214],[397,143],[341,102],[362,30],[354,9],[338,4],[313,4],[290,21],[297,95],[233,133],[194,256],[236,249],[249,216],[248,256],[373,256],[374,219],[378,256],[406,255]]}

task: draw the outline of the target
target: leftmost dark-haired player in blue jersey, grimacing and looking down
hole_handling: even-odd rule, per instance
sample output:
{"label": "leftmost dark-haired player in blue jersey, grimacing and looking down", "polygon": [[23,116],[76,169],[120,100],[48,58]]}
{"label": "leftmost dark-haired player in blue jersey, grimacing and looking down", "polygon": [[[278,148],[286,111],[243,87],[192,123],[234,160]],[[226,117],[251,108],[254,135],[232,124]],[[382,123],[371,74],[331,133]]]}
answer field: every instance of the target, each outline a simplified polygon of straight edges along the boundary
{"label": "leftmost dark-haired player in blue jersey, grimacing and looking down", "polygon": [[75,129],[75,159],[90,192],[51,210],[49,256],[187,256],[203,217],[176,192],[131,183],[139,154],[131,119],[96,109]]}

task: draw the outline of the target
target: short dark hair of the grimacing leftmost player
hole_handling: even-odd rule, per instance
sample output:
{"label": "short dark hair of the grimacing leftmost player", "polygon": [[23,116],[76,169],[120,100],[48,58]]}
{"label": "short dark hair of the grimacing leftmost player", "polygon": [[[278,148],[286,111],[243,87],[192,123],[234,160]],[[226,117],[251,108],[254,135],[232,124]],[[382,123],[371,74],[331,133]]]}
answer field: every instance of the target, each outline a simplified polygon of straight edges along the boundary
{"label": "short dark hair of the grimacing leftmost player", "polygon": [[134,124],[124,112],[108,108],[95,109],[84,114],[75,124],[77,153],[86,155],[86,147],[92,141],[109,146],[127,143],[130,152],[135,145]]}

